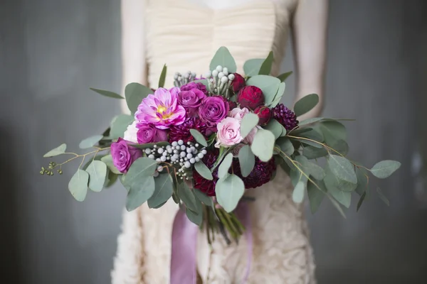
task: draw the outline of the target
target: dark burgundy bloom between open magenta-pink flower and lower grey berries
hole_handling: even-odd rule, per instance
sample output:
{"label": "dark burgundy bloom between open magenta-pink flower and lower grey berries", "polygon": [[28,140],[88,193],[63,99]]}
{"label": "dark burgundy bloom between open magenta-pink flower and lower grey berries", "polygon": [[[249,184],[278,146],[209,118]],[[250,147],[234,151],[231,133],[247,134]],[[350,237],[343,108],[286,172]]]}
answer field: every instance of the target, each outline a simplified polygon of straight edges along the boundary
{"label": "dark burgundy bloom between open magenta-pink flower and lower grey berries", "polygon": [[194,137],[191,136],[190,129],[196,129],[204,136],[209,136],[210,134],[206,128],[206,124],[199,117],[191,117],[184,121],[184,124],[172,126],[169,129],[169,143],[179,140],[184,141],[184,143],[188,141],[194,142]]}

